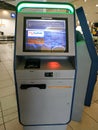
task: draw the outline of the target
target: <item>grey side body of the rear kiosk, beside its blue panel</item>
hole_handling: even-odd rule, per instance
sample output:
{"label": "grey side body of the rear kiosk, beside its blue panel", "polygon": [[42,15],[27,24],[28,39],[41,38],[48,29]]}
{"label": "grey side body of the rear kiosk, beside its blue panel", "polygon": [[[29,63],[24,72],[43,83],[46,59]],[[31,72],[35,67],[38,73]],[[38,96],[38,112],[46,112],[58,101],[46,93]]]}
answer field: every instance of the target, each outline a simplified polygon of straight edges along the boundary
{"label": "grey side body of the rear kiosk, beside its blue panel", "polygon": [[77,42],[77,76],[73,101],[72,120],[80,121],[91,67],[91,59],[85,41]]}

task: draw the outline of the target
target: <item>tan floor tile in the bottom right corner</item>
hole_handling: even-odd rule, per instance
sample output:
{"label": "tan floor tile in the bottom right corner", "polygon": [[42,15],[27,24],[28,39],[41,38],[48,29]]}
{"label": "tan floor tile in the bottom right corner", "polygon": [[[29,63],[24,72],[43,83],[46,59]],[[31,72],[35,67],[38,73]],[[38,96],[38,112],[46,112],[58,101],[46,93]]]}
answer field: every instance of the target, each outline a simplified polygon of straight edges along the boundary
{"label": "tan floor tile in the bottom right corner", "polygon": [[98,130],[98,123],[83,113],[81,122],[71,121],[69,124],[73,130]]}

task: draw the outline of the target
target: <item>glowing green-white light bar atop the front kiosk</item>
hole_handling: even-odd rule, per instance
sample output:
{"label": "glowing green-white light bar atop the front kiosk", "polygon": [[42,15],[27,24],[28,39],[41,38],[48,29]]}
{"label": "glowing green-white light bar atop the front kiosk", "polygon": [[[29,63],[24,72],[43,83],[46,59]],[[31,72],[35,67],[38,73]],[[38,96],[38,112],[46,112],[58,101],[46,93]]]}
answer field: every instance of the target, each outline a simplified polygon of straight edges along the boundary
{"label": "glowing green-white light bar atop the front kiosk", "polygon": [[74,14],[75,9],[69,3],[59,3],[59,2],[31,2],[22,1],[17,5],[17,12],[22,12],[25,8],[38,8],[38,9],[65,9],[69,10],[67,14]]}

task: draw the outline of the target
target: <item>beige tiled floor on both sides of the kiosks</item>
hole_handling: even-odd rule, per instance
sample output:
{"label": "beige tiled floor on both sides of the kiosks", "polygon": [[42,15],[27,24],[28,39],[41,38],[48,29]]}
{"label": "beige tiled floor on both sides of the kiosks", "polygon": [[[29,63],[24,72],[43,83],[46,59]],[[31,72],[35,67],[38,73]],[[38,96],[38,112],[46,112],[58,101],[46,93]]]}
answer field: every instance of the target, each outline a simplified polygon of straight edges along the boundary
{"label": "beige tiled floor on both sides of the kiosks", "polygon": [[[13,79],[13,43],[0,44],[0,130],[23,130],[18,122]],[[84,107],[80,122],[71,121],[67,130],[98,130],[98,82],[91,107]]]}

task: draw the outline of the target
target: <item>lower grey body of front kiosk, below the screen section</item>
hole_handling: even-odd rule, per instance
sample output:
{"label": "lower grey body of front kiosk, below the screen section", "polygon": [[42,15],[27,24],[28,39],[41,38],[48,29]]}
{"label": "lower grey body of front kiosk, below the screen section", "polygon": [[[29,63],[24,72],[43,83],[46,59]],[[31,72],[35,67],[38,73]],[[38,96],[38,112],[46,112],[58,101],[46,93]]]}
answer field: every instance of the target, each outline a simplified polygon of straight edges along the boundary
{"label": "lower grey body of front kiosk, below the screen section", "polygon": [[[60,67],[50,69],[52,62]],[[40,69],[24,69],[22,64],[16,71],[21,123],[65,124],[70,120],[75,70],[65,60],[44,59],[40,64]]]}

